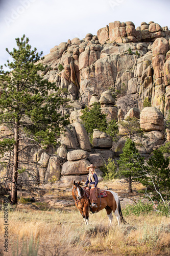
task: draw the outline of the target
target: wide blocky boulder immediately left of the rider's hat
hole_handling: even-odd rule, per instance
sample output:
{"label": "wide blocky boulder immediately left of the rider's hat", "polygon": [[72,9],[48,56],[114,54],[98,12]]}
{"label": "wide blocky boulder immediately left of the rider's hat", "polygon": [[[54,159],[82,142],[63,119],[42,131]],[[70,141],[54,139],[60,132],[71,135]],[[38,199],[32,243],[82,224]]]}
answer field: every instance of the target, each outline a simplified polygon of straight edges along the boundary
{"label": "wide blocky boulder immediately left of the rider's hat", "polygon": [[67,161],[62,166],[61,175],[87,174],[89,173],[87,170],[89,165],[90,162],[86,159]]}

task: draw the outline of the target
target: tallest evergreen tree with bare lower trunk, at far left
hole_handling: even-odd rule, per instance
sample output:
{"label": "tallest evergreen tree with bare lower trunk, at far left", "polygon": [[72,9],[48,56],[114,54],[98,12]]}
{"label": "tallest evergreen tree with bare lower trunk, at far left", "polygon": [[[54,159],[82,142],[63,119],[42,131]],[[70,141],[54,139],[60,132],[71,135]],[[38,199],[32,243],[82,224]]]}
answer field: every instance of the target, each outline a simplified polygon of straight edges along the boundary
{"label": "tallest evergreen tree with bare lower trunk, at far left", "polygon": [[[12,192],[11,202],[17,202],[18,172],[23,172],[21,154],[31,146],[57,145],[61,127],[67,123],[65,117],[57,112],[63,102],[57,95],[55,83],[43,79],[46,67],[40,63],[42,52],[31,49],[29,38],[25,35],[16,38],[17,49],[7,52],[13,58],[7,60],[8,70],[0,70],[0,87],[3,93],[0,98],[0,125],[5,125],[10,136],[1,137],[1,153],[11,147],[12,152]],[[41,75],[39,75],[41,74]],[[49,95],[54,90],[56,93]]]}

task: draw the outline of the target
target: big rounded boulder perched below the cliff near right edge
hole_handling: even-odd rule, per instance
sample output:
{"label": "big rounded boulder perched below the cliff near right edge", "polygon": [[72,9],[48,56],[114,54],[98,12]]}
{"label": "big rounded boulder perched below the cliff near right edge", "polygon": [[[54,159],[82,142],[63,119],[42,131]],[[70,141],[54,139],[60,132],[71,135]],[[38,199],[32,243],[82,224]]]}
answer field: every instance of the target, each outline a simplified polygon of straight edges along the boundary
{"label": "big rounded boulder perched below the cliff near right edge", "polygon": [[152,106],[144,108],[140,114],[140,127],[145,132],[162,131],[164,127],[162,112]]}

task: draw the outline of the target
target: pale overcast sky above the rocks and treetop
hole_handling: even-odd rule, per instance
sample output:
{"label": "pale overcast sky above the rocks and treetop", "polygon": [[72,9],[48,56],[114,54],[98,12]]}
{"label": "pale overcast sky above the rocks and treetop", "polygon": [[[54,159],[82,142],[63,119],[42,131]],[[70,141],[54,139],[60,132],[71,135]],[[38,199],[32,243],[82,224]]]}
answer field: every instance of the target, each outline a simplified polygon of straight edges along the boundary
{"label": "pale overcast sky above the rocks and treetop", "polygon": [[115,20],[135,27],[153,20],[169,29],[169,11],[169,0],[0,0],[0,65],[9,58],[5,48],[12,50],[23,34],[45,55],[60,42],[96,35]]}

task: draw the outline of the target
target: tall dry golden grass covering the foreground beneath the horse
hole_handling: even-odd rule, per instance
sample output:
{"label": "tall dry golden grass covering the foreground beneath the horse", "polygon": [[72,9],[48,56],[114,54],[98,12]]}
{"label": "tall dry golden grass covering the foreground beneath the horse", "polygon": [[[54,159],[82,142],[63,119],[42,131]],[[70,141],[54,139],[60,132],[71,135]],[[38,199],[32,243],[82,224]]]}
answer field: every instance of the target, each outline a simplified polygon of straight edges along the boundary
{"label": "tall dry golden grass covering the foreground beneath the horse", "polygon": [[[3,212],[0,213],[1,241],[3,244]],[[30,255],[21,253],[23,241],[29,246],[38,244],[38,255],[169,255],[169,218],[157,216],[128,216],[128,224],[112,225],[106,211],[90,215],[85,226],[80,213],[73,207],[64,211],[13,211],[9,212],[9,252],[4,255]],[[16,245],[18,241],[18,254]],[[13,254],[12,254],[13,252]]]}

